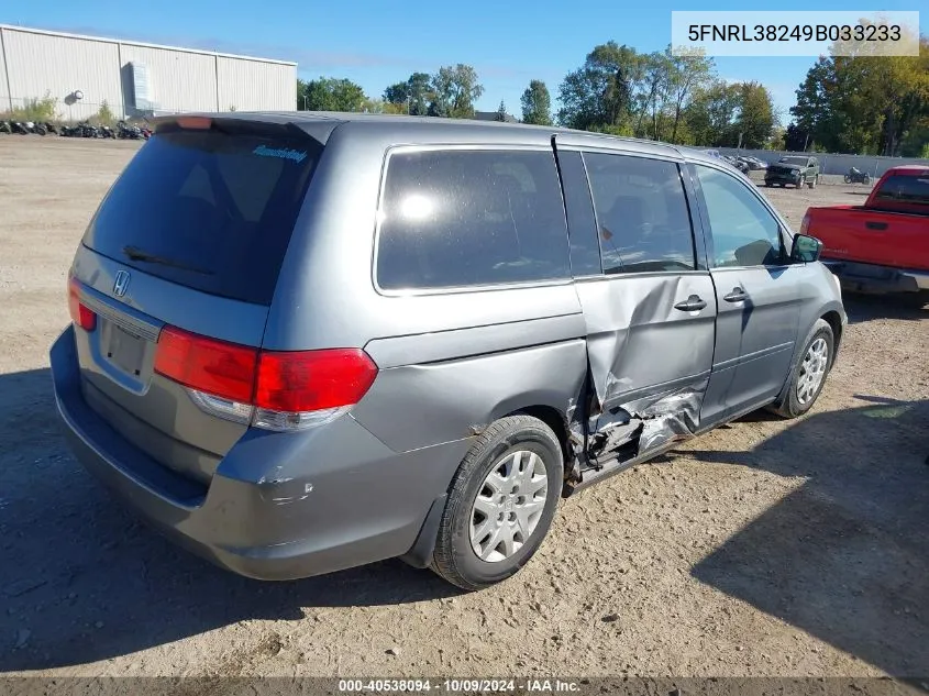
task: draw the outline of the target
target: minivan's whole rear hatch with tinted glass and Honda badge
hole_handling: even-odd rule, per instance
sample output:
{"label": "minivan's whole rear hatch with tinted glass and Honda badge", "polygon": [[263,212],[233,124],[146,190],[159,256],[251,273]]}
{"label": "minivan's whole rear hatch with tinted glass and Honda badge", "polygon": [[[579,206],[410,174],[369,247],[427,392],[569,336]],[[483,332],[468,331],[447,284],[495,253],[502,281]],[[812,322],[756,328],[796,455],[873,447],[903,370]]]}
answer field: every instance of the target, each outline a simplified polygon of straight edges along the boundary
{"label": "minivan's whole rear hatch with tinted glass and Honda badge", "polygon": [[[162,123],[81,241],[70,305],[85,398],[193,479],[208,482],[248,427],[241,402],[209,393],[253,396],[268,307],[321,152],[286,123]],[[186,388],[196,364],[206,365],[201,396]]]}

